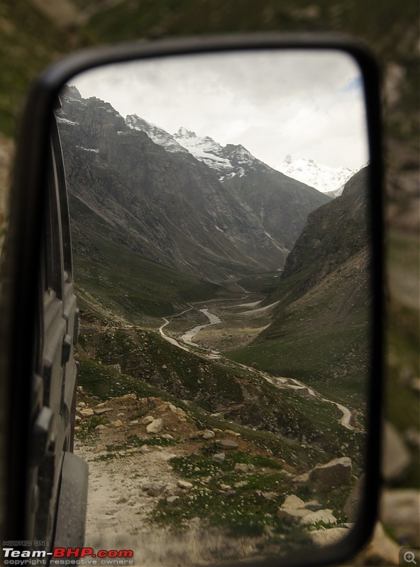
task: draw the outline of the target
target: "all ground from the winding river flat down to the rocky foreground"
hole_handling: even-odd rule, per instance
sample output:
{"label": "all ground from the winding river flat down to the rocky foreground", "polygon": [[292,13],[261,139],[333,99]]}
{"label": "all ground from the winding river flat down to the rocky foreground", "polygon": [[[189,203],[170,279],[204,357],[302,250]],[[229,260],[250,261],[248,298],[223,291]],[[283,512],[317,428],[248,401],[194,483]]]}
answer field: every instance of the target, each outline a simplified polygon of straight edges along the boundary
{"label": "all ground from the winding river flat down to the rocky foreground", "polygon": [[[242,291],[145,327],[84,315],[74,451],[90,471],[87,545],[133,549],[136,567],[187,567],[348,534],[360,416],[304,381],[228,359],[275,307]],[[322,488],[317,467],[328,470]]]}

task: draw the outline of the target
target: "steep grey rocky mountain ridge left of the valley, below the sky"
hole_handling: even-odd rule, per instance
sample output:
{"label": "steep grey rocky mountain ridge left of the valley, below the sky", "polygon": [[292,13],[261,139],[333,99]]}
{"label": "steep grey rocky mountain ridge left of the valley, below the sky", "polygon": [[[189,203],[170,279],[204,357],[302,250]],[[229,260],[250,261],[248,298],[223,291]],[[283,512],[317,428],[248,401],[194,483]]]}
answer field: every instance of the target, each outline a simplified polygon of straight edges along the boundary
{"label": "steep grey rocky mountain ridge left of the valley, below the sky", "polygon": [[[318,191],[272,170],[277,198],[284,206],[272,206],[268,196],[272,188],[265,191],[262,185],[261,193],[267,194],[268,214],[275,215],[280,227],[284,225],[279,232],[284,237],[276,238],[267,233],[265,215],[244,192],[221,184],[213,169],[169,135],[162,143],[161,129],[133,117],[128,127],[109,103],[84,100],[74,87],[65,89],[61,99],[57,122],[67,182],[73,202],[79,203],[73,208],[74,225],[85,234],[87,225],[95,227],[96,234],[112,237],[156,262],[213,281],[277,269],[309,210],[325,202]],[[161,143],[156,144],[140,125],[155,139],[160,137]],[[228,151],[236,167],[242,167],[244,150],[232,146]],[[255,186],[258,172],[251,173],[254,178],[249,182]],[[250,174],[241,179],[248,180]],[[299,191],[306,196],[304,201]],[[77,218],[81,208],[84,213]]]}

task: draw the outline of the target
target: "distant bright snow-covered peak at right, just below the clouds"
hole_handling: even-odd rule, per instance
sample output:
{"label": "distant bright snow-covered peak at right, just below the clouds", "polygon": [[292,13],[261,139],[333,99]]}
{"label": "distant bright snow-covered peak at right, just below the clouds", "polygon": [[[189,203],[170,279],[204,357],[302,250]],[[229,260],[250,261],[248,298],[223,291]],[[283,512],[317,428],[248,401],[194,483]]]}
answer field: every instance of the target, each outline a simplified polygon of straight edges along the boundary
{"label": "distant bright snow-covered peak at right, just below the clouds", "polygon": [[306,185],[314,187],[331,197],[338,197],[343,193],[344,185],[348,179],[359,171],[348,169],[348,167],[329,167],[317,164],[314,159],[293,159],[291,155],[284,157],[281,164],[275,167],[277,171],[302,181]]}

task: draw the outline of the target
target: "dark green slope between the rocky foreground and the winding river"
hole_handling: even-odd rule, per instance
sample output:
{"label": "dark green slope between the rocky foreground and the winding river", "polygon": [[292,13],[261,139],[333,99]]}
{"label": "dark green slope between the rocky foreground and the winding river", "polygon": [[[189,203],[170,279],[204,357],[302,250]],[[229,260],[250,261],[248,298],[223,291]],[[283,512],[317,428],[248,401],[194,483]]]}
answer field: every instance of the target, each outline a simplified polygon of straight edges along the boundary
{"label": "dark green slope between the rocky foreground and the winding river", "polygon": [[169,395],[189,400],[200,412],[219,412],[229,427],[279,434],[279,447],[287,456],[300,444],[306,462],[341,455],[350,456],[355,466],[362,462],[363,436],[341,425],[341,412],[331,403],[279,390],[256,371],[185,352],[155,332],[105,326],[88,313],[82,323],[80,383],[92,395]]}

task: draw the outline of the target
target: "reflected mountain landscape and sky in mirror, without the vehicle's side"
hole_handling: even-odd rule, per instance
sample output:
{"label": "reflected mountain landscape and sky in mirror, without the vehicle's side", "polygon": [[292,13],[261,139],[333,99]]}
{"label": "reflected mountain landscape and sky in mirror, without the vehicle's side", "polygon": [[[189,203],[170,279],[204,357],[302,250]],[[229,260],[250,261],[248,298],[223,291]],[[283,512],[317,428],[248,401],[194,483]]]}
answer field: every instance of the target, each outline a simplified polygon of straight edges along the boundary
{"label": "reflected mountain landscape and sky in mirror, without the vehicle's side", "polygon": [[370,371],[357,65],[166,57],[60,100],[86,544],[187,566],[346,537]]}

